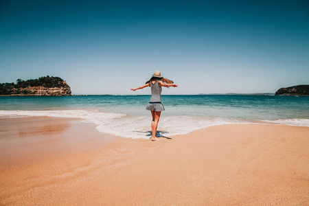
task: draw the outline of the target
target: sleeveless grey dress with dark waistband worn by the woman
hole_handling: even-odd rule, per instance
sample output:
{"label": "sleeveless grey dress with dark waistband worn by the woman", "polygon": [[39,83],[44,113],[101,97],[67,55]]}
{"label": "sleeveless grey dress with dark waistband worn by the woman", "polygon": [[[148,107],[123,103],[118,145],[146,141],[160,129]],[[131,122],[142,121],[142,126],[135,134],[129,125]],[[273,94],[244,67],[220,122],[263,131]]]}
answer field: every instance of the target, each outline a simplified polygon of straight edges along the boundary
{"label": "sleeveless grey dress with dark waistband worn by the woman", "polygon": [[146,106],[146,110],[150,111],[165,111],[163,104],[161,104],[161,92],[162,88],[159,86],[159,80],[152,84],[150,81],[151,98],[149,104]]}

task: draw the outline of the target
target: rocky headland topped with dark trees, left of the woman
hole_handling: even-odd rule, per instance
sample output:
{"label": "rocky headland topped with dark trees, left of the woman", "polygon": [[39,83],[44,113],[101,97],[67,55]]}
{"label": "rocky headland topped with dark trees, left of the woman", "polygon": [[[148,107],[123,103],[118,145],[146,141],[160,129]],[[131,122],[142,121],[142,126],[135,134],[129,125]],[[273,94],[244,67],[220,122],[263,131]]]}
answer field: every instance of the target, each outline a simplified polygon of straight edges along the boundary
{"label": "rocky headland topped with dark trees, left of the woman", "polygon": [[35,80],[18,79],[16,84],[14,82],[2,83],[0,95],[71,95],[71,88],[62,78],[43,76]]}

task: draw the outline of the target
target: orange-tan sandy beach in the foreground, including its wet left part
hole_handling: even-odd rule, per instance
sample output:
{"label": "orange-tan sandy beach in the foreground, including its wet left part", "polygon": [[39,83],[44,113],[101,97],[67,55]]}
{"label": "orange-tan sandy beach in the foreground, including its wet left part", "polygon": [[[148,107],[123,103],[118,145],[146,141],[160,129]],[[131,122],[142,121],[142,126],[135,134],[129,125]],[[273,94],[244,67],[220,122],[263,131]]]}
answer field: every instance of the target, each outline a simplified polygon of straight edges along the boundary
{"label": "orange-tan sandy beach in the foreground, including its wet left part", "polygon": [[0,119],[0,205],[308,205],[308,137],[229,124],[152,142],[80,119]]}

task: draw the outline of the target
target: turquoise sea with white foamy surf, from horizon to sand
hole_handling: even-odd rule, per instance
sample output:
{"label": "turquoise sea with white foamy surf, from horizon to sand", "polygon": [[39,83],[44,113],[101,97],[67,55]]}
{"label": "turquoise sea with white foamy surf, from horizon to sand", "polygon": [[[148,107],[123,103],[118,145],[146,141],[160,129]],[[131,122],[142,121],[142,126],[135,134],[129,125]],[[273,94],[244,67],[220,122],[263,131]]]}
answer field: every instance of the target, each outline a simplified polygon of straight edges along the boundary
{"label": "turquoise sea with white foamy surf, from horizon to sand", "polygon": [[[0,97],[0,118],[69,117],[96,125],[102,133],[149,138],[150,95]],[[309,126],[308,96],[162,95],[159,135],[190,133],[220,124]]]}

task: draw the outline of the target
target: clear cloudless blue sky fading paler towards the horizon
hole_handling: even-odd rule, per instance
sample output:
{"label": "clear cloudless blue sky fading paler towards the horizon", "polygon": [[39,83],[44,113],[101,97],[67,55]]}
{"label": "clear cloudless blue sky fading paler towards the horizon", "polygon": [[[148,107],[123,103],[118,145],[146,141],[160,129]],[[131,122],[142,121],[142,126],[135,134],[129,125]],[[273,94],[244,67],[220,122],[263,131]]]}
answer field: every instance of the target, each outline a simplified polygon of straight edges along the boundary
{"label": "clear cloudless blue sky fading paler towards the horizon", "polygon": [[73,94],[260,93],[309,84],[309,1],[0,1],[0,82]]}

